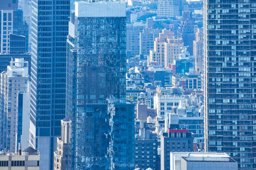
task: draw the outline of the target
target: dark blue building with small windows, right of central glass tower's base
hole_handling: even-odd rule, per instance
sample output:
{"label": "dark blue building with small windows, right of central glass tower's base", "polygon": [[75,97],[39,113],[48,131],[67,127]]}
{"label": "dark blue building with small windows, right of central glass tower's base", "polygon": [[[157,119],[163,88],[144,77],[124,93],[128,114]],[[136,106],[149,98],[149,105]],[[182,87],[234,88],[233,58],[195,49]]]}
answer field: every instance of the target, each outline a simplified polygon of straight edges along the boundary
{"label": "dark blue building with small windows, right of central glass tower's base", "polygon": [[157,140],[135,140],[135,167],[146,170],[148,167],[157,170]]}

